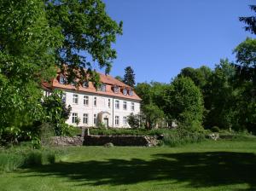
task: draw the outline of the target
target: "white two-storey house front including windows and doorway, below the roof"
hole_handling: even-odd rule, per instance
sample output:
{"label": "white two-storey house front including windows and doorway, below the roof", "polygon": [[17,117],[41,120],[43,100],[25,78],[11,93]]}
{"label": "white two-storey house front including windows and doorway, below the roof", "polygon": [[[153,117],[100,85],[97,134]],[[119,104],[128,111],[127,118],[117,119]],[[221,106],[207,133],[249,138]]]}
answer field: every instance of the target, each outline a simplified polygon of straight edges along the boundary
{"label": "white two-storey house front including windows and doorway, below the roof", "polygon": [[121,97],[105,96],[75,90],[63,90],[67,106],[72,111],[67,124],[76,126],[76,118],[80,119],[79,127],[96,126],[98,123],[109,127],[127,128],[126,121],[131,113],[140,113],[140,103],[137,100]]}

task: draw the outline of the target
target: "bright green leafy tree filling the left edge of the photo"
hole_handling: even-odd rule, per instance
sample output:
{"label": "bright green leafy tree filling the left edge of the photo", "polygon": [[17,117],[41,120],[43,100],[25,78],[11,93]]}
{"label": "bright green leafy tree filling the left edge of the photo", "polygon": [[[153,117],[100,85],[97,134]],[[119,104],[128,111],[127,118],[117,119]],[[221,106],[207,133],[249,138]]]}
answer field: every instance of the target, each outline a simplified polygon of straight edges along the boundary
{"label": "bright green leafy tree filling the left edge of the photo", "polygon": [[42,1],[3,0],[0,9],[0,136],[20,138],[44,117],[40,84],[55,76],[61,33]]}

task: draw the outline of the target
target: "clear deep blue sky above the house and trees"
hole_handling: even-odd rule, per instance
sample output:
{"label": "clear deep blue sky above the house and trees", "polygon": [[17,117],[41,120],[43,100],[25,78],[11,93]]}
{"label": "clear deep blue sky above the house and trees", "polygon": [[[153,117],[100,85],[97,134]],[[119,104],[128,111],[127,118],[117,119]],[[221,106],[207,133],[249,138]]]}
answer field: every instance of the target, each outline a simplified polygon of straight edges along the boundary
{"label": "clear deep blue sky above the house and trees", "polygon": [[[236,61],[233,49],[247,37],[240,16],[253,15],[256,0],[103,0],[113,20],[124,22],[113,48],[110,75],[131,66],[136,82],[169,83],[184,67],[212,69]],[[254,37],[253,37],[254,38]]]}

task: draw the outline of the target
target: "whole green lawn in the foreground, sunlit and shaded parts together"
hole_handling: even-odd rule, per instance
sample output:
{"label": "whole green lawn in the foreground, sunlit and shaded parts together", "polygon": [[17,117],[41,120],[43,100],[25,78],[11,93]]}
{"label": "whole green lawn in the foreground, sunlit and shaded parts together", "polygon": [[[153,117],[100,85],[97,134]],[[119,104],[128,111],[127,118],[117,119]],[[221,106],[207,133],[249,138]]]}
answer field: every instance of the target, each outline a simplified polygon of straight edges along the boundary
{"label": "whole green lawn in the foreground, sunlit and shaded parts together", "polygon": [[256,190],[256,141],[67,148],[53,165],[0,174],[0,190]]}

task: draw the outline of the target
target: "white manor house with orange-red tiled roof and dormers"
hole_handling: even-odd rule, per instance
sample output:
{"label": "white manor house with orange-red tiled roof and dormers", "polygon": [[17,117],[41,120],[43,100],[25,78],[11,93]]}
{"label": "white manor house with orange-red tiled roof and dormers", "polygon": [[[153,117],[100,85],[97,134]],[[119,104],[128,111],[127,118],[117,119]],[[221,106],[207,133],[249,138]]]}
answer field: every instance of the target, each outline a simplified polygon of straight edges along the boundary
{"label": "white manor house with orange-red tiled roof and dormers", "polygon": [[92,83],[75,87],[67,84],[61,73],[50,83],[43,83],[44,94],[51,90],[62,90],[63,101],[72,107],[67,124],[79,127],[92,127],[99,123],[108,127],[128,128],[127,116],[140,113],[141,98],[133,89],[118,79],[100,73],[101,88],[96,90]]}

